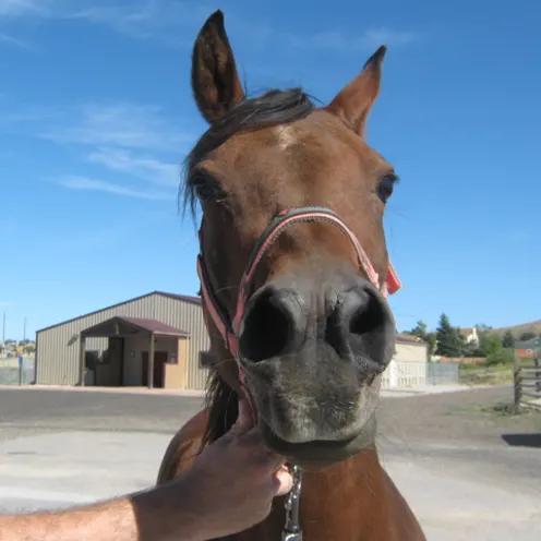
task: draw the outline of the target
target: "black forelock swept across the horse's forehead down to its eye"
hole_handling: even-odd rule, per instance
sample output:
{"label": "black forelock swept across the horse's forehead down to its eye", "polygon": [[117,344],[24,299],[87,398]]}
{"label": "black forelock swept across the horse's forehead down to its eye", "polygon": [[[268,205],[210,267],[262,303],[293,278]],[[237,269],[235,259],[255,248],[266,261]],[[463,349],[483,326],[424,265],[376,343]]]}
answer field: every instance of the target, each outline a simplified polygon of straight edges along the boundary
{"label": "black forelock swept across the horse's forehead down to its eye", "polygon": [[313,101],[300,87],[285,91],[274,88],[261,96],[242,99],[219,121],[207,129],[187,156],[182,197],[184,212],[190,208],[194,217],[199,195],[204,197],[219,193],[219,187],[213,185],[212,179],[201,175],[192,175],[195,166],[208,153],[237,133],[253,132],[263,128],[294,122],[310,115],[313,109]]}

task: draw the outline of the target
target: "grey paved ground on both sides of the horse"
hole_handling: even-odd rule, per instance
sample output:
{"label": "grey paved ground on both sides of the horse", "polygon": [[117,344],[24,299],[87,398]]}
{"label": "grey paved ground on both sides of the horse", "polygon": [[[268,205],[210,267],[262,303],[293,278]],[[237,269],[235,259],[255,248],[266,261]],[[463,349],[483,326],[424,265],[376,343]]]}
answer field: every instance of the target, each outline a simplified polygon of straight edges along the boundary
{"label": "grey paved ground on both sides of the horse", "polygon": [[[541,416],[494,414],[509,396],[496,388],[382,400],[382,460],[430,540],[541,539]],[[201,406],[197,397],[0,389],[0,510],[152,484],[170,436]]]}

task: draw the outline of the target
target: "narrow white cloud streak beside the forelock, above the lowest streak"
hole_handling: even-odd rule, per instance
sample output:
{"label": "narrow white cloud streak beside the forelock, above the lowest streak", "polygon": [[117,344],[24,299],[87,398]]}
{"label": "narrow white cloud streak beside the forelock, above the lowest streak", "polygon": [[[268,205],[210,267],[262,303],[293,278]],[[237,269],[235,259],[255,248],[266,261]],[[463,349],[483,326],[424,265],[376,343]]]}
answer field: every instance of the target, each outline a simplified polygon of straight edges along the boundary
{"label": "narrow white cloud streak beside the forelock, above the lowest streak", "polygon": [[88,155],[88,161],[164,187],[178,187],[180,180],[178,164],[168,164],[151,156],[137,156],[122,148],[98,148]]}

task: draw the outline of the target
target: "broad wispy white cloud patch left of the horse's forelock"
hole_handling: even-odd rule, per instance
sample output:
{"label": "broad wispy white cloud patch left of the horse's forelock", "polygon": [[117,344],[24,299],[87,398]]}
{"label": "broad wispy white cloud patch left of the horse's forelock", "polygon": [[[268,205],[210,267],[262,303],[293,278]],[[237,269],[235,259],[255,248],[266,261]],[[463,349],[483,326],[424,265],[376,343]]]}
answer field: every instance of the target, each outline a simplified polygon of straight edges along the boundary
{"label": "broad wispy white cloud patch left of the horse's forelock", "polygon": [[[32,106],[15,109],[7,103],[3,109],[0,124],[4,131],[32,134],[80,153],[84,161],[81,169],[67,171],[56,180],[72,190],[172,201],[180,182],[181,156],[195,141],[195,135],[182,133],[161,108],[151,105],[91,104],[58,110]],[[88,165],[104,172],[96,167],[88,171]],[[142,180],[153,188],[142,187]]]}

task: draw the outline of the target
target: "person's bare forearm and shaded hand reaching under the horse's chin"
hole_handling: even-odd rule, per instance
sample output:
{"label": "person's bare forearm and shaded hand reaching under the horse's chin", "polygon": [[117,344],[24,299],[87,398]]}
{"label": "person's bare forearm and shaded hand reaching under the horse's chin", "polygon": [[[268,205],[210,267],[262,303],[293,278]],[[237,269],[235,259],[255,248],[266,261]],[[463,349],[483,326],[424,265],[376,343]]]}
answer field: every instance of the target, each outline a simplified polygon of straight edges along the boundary
{"label": "person's bare forearm and shaded hand reaching under the horse's chin", "polygon": [[0,541],[204,541],[263,520],[291,478],[251,429],[237,424],[179,479],[147,491],[58,513],[0,517]]}

